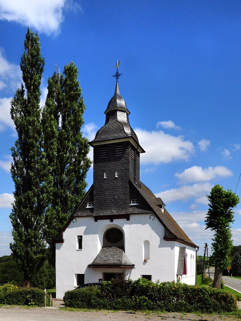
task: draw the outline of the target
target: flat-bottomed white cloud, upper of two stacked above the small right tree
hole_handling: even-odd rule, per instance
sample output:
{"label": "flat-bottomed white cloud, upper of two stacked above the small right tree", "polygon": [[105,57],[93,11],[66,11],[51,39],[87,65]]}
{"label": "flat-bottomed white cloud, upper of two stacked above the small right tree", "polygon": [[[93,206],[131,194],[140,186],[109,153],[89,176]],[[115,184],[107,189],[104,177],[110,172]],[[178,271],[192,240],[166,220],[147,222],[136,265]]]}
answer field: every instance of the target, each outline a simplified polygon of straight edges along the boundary
{"label": "flat-bottomed white cloud, upper of two stacked above the small right tree", "polygon": [[224,166],[209,166],[204,169],[201,166],[192,166],[182,173],[176,173],[175,177],[182,182],[206,182],[216,177],[229,177],[232,175],[231,170]]}

